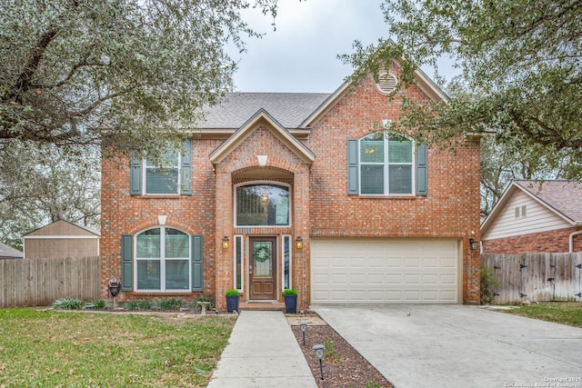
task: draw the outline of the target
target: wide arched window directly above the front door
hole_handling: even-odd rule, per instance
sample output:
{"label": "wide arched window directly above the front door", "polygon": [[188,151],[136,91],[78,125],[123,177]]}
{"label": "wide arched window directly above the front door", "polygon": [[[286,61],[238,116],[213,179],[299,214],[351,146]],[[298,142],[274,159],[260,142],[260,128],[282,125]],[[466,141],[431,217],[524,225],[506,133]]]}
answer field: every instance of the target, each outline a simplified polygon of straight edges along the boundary
{"label": "wide arched window directly above the front door", "polygon": [[288,226],[289,188],[278,184],[236,187],[237,226]]}

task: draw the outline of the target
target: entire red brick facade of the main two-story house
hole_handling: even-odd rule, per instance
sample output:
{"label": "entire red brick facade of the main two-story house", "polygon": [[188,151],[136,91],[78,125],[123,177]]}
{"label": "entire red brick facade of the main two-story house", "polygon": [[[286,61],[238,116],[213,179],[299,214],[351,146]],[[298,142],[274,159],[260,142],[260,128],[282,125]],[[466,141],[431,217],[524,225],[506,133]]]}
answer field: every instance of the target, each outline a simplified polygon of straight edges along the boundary
{"label": "entire red brick facade of the main two-story house", "polygon": [[[417,87],[406,92],[426,99]],[[103,295],[111,278],[119,279],[121,235],[135,234],[158,224],[157,215],[167,215],[166,225],[188,234],[204,235],[204,294],[224,308],[224,292],[233,284],[233,250],[223,251],[221,239],[234,234],[291,234],[301,236],[304,249],[294,252],[293,287],[298,290],[298,308],[309,305],[310,252],[312,236],[352,237],[447,237],[462,241],[464,301],[478,302],[479,254],[468,249],[468,238],[479,233],[479,145],[463,144],[456,154],[428,153],[428,195],[421,197],[359,197],[347,195],[347,139],[367,134],[383,119],[396,120],[400,104],[376,91],[372,79],[350,91],[313,127],[305,144],[316,154],[312,166],[289,151],[265,128],[246,138],[215,167],[208,155],[221,140],[195,139],[193,144],[193,194],[179,197],[130,196],[126,160],[104,160],[102,182],[101,282]],[[284,228],[236,228],[233,224],[233,184],[248,180],[258,166],[257,154],[267,154],[266,169],[286,175],[292,184],[292,224]],[[279,178],[283,179],[283,178]],[[216,200],[215,200],[216,194]],[[273,230],[271,230],[273,229]],[[232,245],[232,244],[231,244]],[[280,278],[279,278],[280,279]],[[176,296],[176,293],[168,293]],[[199,293],[177,295],[196,299]],[[143,299],[144,293],[121,293],[118,300]],[[155,293],[151,298],[162,297]],[[243,295],[245,298],[245,295]],[[279,298],[281,301],[282,297]]]}

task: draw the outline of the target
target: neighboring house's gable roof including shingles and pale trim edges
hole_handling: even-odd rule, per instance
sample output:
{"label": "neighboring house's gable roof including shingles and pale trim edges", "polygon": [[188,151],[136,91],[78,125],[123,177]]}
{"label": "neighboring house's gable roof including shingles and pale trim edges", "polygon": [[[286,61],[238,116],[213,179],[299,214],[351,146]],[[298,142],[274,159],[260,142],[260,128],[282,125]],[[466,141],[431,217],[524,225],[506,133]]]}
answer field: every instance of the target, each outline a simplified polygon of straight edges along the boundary
{"label": "neighboring house's gable roof including shingles and pale trim edges", "polygon": [[551,214],[571,226],[582,225],[582,183],[576,181],[513,181],[507,186],[487,219],[481,225],[481,236],[495,224],[507,203],[517,193],[526,194]]}

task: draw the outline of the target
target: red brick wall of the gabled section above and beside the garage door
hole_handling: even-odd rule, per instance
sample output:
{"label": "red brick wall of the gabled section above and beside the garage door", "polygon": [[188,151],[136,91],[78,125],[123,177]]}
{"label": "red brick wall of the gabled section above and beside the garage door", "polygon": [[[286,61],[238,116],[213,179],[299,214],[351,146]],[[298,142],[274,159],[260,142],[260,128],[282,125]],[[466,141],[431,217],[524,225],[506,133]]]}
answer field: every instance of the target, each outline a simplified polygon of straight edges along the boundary
{"label": "red brick wall of the gabled section above and beside the garage door", "polygon": [[[409,98],[426,99],[418,87]],[[312,237],[453,237],[463,241],[463,293],[479,300],[479,254],[468,238],[479,239],[479,144],[464,143],[457,153],[428,150],[426,196],[347,195],[348,139],[396,121],[400,103],[376,91],[373,79],[348,93],[314,125],[307,146],[316,154],[310,176]]]}

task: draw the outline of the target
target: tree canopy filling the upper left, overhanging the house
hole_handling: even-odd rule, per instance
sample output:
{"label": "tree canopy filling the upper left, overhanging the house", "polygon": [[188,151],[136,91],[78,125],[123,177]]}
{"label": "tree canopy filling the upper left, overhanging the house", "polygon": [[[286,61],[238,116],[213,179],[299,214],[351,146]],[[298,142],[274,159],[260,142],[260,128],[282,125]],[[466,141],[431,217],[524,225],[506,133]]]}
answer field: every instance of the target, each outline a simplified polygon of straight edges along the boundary
{"label": "tree canopy filling the upper left, overhanging the house", "polygon": [[156,151],[232,87],[226,45],[258,36],[240,11],[276,15],[249,1],[3,1],[0,145]]}

